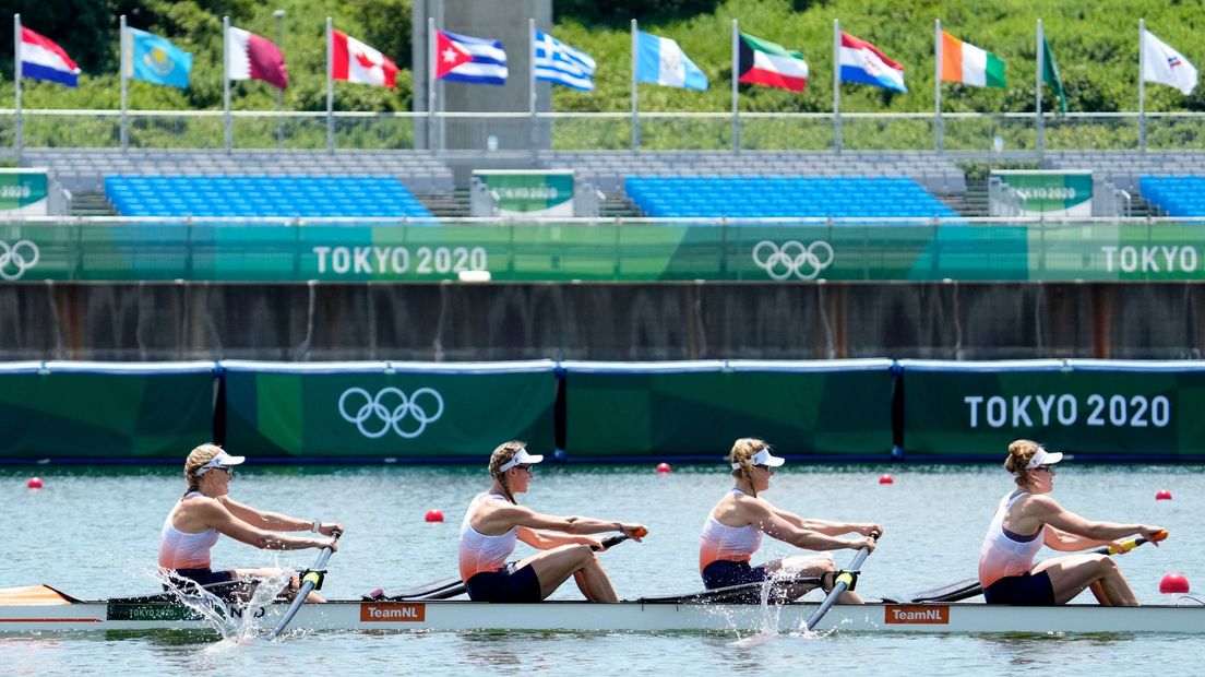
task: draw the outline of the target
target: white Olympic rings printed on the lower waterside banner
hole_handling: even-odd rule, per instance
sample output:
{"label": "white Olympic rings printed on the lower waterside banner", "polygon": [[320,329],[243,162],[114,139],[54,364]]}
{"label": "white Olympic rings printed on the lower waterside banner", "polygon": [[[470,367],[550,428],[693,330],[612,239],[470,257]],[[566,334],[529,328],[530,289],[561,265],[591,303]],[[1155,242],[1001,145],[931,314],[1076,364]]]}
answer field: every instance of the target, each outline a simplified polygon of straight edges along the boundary
{"label": "white Olympic rings printed on the lower waterside banner", "polygon": [[[424,407],[419,398],[428,405]],[[351,408],[348,406],[351,405]],[[428,411],[433,407],[434,413]],[[376,440],[393,429],[399,436],[413,440],[443,416],[443,398],[430,388],[419,388],[406,396],[398,388],[383,388],[376,396],[364,388],[348,388],[339,398],[339,414],[354,423],[360,434]],[[413,423],[406,423],[407,420]]]}

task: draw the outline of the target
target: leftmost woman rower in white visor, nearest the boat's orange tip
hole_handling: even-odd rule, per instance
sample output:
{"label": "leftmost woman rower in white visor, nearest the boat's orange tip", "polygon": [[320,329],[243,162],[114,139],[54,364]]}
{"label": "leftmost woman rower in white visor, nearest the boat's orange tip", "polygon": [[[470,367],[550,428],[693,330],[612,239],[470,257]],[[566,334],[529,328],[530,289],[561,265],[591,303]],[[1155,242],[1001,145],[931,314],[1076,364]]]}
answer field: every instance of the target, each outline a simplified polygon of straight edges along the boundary
{"label": "leftmost woman rower in white visor, nearest the boat's orange tip", "polygon": [[[159,538],[159,567],[175,582],[212,585],[280,575],[278,569],[211,570],[210,549],[217,543],[218,534],[269,551],[337,549],[335,534],[343,531],[341,524],[264,512],[231,499],[231,466],[243,460],[243,457],[231,457],[217,445],[201,445],[188,454],[184,461],[188,490],[167,513]],[[316,535],[289,536],[280,531],[310,531]],[[292,587],[298,587],[296,573],[293,575]],[[323,601],[313,593],[307,600]]]}

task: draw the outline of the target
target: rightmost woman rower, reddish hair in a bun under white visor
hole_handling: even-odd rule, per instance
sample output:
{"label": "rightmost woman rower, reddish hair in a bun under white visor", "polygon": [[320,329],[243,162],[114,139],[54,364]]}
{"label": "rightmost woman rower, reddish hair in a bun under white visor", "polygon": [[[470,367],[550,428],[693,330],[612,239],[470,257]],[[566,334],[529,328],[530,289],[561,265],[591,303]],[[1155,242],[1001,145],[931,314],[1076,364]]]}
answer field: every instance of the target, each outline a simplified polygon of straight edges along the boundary
{"label": "rightmost woman rower, reddish hair in a bun under white visor", "polygon": [[[1054,489],[1054,464],[1062,453],[1051,453],[1036,442],[1009,445],[1004,467],[1017,489],[1000,500],[980,551],[978,577],[988,604],[1015,606],[1065,605],[1091,588],[1105,606],[1138,606],[1113,559],[1105,554],[1078,554],[1047,559],[1034,565],[1034,555],[1046,544],[1056,551],[1082,551],[1140,534],[1158,544],[1158,526],[1091,522],[1046,495]],[[1040,537],[1039,537],[1040,536]]]}

